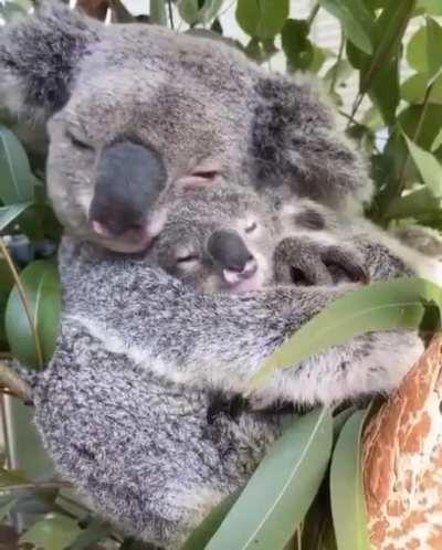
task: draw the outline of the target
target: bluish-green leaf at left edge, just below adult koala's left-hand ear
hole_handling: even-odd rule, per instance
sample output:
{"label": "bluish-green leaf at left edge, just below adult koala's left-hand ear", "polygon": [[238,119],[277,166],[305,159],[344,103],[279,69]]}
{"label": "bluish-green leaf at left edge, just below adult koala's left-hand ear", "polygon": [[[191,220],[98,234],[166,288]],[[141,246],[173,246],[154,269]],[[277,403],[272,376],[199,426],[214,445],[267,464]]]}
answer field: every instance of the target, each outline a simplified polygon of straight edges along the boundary
{"label": "bluish-green leaf at left edge, just below adult koala's left-hand ear", "polygon": [[0,199],[4,204],[32,201],[34,177],[17,137],[0,126]]}

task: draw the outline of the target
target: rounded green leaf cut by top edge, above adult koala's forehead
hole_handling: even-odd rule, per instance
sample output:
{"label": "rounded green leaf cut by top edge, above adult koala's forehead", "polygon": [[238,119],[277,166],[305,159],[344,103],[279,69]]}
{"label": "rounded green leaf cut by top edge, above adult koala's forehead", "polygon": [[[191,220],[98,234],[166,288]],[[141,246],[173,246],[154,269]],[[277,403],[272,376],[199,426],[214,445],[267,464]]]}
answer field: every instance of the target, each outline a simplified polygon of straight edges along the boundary
{"label": "rounded green leaf cut by top edge, above adult koala's forehead", "polygon": [[250,36],[273,39],[288,17],[288,0],[238,0],[235,15]]}

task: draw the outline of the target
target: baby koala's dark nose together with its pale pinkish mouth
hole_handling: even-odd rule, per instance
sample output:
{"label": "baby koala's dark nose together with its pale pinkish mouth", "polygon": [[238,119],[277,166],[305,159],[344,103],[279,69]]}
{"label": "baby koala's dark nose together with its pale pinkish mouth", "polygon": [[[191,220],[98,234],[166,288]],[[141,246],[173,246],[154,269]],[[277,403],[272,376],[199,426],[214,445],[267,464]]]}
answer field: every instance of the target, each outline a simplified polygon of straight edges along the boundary
{"label": "baby koala's dark nose together with its pale pinkish mouth", "polygon": [[235,231],[214,231],[207,246],[229,285],[235,285],[256,273],[256,261]]}

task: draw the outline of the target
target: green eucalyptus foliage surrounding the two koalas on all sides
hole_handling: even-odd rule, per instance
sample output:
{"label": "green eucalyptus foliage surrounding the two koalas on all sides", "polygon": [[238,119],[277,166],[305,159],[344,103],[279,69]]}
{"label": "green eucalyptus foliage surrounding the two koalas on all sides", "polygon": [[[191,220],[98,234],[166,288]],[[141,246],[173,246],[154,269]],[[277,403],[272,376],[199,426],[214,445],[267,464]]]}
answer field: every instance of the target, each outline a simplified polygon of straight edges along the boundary
{"label": "green eucalyptus foliage surrounding the two koalas on all sides", "polygon": [[[283,60],[288,73],[316,74],[336,104],[346,131],[370,160],[376,197],[367,215],[385,228],[417,223],[442,229],[440,0],[319,0],[305,19],[296,17],[296,0],[292,9],[288,0],[146,0],[146,13],[137,17],[119,0],[78,3],[102,20],[107,14],[114,22],[157,23],[225,40],[269,68]],[[232,4],[245,41],[223,34],[222,14]],[[0,17],[8,24],[31,8],[29,0],[11,0],[0,3]],[[336,51],[313,40],[320,10],[333,14],[340,28]],[[407,30],[415,23],[410,36]],[[348,104],[343,95],[354,78],[358,86]],[[14,356],[41,369],[51,357],[60,315],[54,257],[61,228],[45,197],[45,136],[7,113],[0,112],[0,360],[6,363]],[[406,322],[399,315],[404,304],[410,307],[407,326],[428,320],[431,310],[424,315],[421,298],[440,304],[440,289],[424,282],[401,285],[367,289],[356,305],[343,303],[315,319],[316,328],[330,326],[334,315],[345,321],[351,307],[362,305],[361,326],[366,328]],[[388,300],[397,316],[387,319],[378,309],[378,317],[372,317],[368,306]],[[344,322],[339,334],[327,332],[314,346],[320,349],[348,337],[355,330],[350,325],[346,328]],[[296,338],[298,353],[315,351],[305,336]],[[282,350],[266,368],[293,360],[293,349],[286,353],[287,349]],[[3,379],[7,372],[1,364]],[[33,454],[35,462],[36,453],[41,456],[42,452],[36,451],[29,431],[25,408],[15,398],[4,398],[10,393],[23,396],[22,389],[13,380],[6,385],[0,546],[1,538],[8,537],[11,549],[18,548],[19,541],[45,550],[98,549],[103,544],[120,550],[148,548],[124,540],[78,504],[66,484],[53,478],[45,459],[36,470],[30,466],[27,454]],[[365,413],[351,409],[334,417],[314,411],[292,421],[242,495],[213,510],[186,548],[273,550],[290,544],[286,548],[297,550],[367,549],[359,456],[364,422]]]}

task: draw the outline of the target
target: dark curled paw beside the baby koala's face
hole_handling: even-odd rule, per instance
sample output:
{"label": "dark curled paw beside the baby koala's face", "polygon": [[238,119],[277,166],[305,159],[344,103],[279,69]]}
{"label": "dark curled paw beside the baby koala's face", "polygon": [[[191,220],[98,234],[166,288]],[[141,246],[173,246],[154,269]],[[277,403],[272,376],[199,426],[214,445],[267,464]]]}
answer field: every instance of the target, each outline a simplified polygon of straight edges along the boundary
{"label": "dark curled paw beside the baby koala's face", "polygon": [[313,286],[370,281],[360,253],[341,244],[286,237],[277,245],[273,263],[275,282],[280,284]]}

